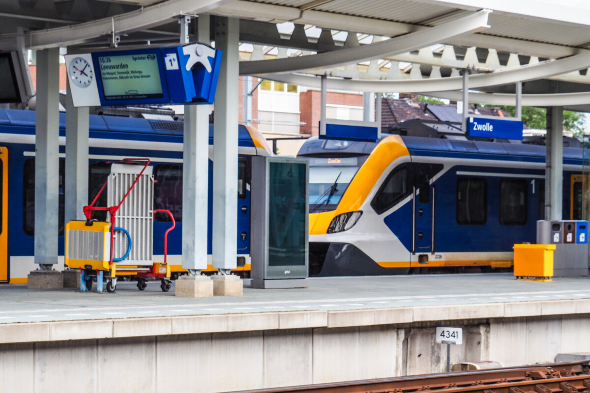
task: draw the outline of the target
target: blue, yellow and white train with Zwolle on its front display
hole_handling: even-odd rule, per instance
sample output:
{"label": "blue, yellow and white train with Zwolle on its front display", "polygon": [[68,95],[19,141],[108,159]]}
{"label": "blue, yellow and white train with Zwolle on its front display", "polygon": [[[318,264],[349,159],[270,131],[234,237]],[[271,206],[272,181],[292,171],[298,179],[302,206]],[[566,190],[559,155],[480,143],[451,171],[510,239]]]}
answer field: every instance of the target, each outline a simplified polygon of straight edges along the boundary
{"label": "blue, yellow and white train with Zwolle on its front display", "polygon": [[[544,146],[383,134],[310,138],[298,156],[310,160],[310,275],[510,267],[544,217]],[[566,147],[563,217],[581,216],[582,148]]]}

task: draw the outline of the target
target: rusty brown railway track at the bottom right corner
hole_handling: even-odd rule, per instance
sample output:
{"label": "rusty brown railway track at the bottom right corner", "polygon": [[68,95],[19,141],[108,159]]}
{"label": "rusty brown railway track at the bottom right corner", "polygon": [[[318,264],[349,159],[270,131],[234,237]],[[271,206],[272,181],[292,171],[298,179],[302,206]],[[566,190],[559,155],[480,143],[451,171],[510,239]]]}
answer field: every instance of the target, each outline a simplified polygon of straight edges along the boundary
{"label": "rusty brown railway track at the bottom right corner", "polygon": [[518,366],[241,393],[579,393],[590,392],[590,362]]}

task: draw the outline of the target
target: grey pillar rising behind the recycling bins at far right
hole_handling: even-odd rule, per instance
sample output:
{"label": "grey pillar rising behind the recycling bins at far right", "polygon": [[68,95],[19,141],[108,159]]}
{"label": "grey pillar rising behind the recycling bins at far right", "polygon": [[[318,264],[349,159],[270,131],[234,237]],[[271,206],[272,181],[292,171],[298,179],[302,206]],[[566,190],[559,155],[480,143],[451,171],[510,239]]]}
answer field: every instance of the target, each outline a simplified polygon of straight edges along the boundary
{"label": "grey pillar rising behind the recycling bins at far right", "polygon": [[545,219],[561,220],[563,209],[563,107],[547,108]]}

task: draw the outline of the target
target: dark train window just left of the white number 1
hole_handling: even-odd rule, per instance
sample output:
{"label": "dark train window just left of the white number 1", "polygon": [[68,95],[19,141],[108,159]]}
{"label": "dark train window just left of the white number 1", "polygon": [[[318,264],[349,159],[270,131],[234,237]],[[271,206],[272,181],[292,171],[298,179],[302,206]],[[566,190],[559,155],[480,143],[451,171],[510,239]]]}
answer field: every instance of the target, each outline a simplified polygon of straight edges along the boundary
{"label": "dark train window just left of the white number 1", "polygon": [[500,180],[499,220],[502,225],[524,225],[528,214],[529,183],[521,179]]}

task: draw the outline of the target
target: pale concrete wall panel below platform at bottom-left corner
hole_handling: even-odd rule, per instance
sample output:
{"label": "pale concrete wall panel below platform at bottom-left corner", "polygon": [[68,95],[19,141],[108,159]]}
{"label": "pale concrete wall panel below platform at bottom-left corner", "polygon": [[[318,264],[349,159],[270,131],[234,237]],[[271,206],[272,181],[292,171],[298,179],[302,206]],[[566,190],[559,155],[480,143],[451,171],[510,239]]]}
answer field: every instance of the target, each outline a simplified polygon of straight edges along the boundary
{"label": "pale concrete wall panel below platform at bottom-left corner", "polygon": [[[2,334],[0,333],[0,337]],[[32,392],[35,363],[33,344],[0,345],[2,391]]]}

